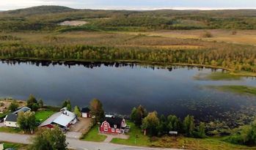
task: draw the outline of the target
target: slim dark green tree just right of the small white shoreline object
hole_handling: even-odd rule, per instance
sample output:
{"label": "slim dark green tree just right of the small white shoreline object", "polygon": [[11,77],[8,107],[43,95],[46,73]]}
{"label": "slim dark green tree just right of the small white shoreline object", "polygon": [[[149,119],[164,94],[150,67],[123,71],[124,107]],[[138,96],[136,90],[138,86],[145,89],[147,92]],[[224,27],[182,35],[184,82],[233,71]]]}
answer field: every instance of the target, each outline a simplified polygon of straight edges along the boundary
{"label": "slim dark green tree just right of the small white shoreline object", "polygon": [[193,136],[194,128],[194,116],[186,116],[186,118],[183,121],[183,130],[186,136]]}

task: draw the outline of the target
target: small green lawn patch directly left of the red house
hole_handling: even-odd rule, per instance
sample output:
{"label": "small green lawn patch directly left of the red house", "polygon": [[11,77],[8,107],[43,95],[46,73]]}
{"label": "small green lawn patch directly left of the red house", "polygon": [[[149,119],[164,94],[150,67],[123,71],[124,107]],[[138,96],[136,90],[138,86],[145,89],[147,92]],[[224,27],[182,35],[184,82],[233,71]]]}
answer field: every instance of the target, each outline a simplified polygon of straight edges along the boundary
{"label": "small green lawn patch directly left of the red house", "polygon": [[106,135],[98,135],[98,126],[92,127],[89,132],[84,135],[82,140],[95,141],[95,142],[103,142],[106,139]]}

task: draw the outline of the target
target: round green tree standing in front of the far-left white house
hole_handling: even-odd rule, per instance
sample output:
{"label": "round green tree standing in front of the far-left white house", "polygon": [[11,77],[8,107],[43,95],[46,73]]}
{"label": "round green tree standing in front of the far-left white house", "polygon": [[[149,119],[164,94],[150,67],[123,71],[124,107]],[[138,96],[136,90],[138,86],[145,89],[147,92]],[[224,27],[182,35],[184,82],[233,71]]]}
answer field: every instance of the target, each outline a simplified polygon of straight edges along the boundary
{"label": "round green tree standing in front of the far-left white house", "polygon": [[34,116],[34,112],[27,111],[26,113],[18,113],[17,123],[21,130],[23,130],[24,132],[33,133],[34,130],[37,128],[37,122]]}

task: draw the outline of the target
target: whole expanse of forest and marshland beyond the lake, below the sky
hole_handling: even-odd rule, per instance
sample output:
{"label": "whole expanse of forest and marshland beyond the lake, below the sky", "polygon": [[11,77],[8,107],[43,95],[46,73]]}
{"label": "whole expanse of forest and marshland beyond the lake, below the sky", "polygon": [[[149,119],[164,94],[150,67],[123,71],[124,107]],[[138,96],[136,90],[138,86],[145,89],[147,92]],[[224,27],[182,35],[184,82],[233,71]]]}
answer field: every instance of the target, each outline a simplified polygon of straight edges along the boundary
{"label": "whole expanse of forest and marshland beyond the lake, below the sky", "polygon": [[[255,14],[256,10],[117,11],[56,6],[5,11],[0,12],[0,57],[193,64],[256,72],[255,45],[211,40],[215,36],[211,31],[216,29],[229,31],[237,39],[236,34],[256,29]],[[65,20],[88,23],[59,26]],[[201,29],[200,37],[147,35],[149,31],[195,29]]]}

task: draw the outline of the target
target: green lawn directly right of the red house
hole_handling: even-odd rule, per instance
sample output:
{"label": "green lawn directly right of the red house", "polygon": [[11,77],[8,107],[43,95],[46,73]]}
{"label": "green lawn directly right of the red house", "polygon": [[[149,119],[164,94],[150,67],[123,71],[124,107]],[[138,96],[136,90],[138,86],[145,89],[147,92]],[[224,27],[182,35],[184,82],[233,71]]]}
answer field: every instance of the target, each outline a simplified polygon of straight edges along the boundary
{"label": "green lawn directly right of the red house", "polygon": [[132,122],[127,122],[127,124],[131,127],[130,131],[127,134],[130,136],[128,140],[113,138],[111,140],[111,143],[119,143],[130,146],[150,146],[150,138],[144,135],[139,127],[136,127],[135,124]]}

